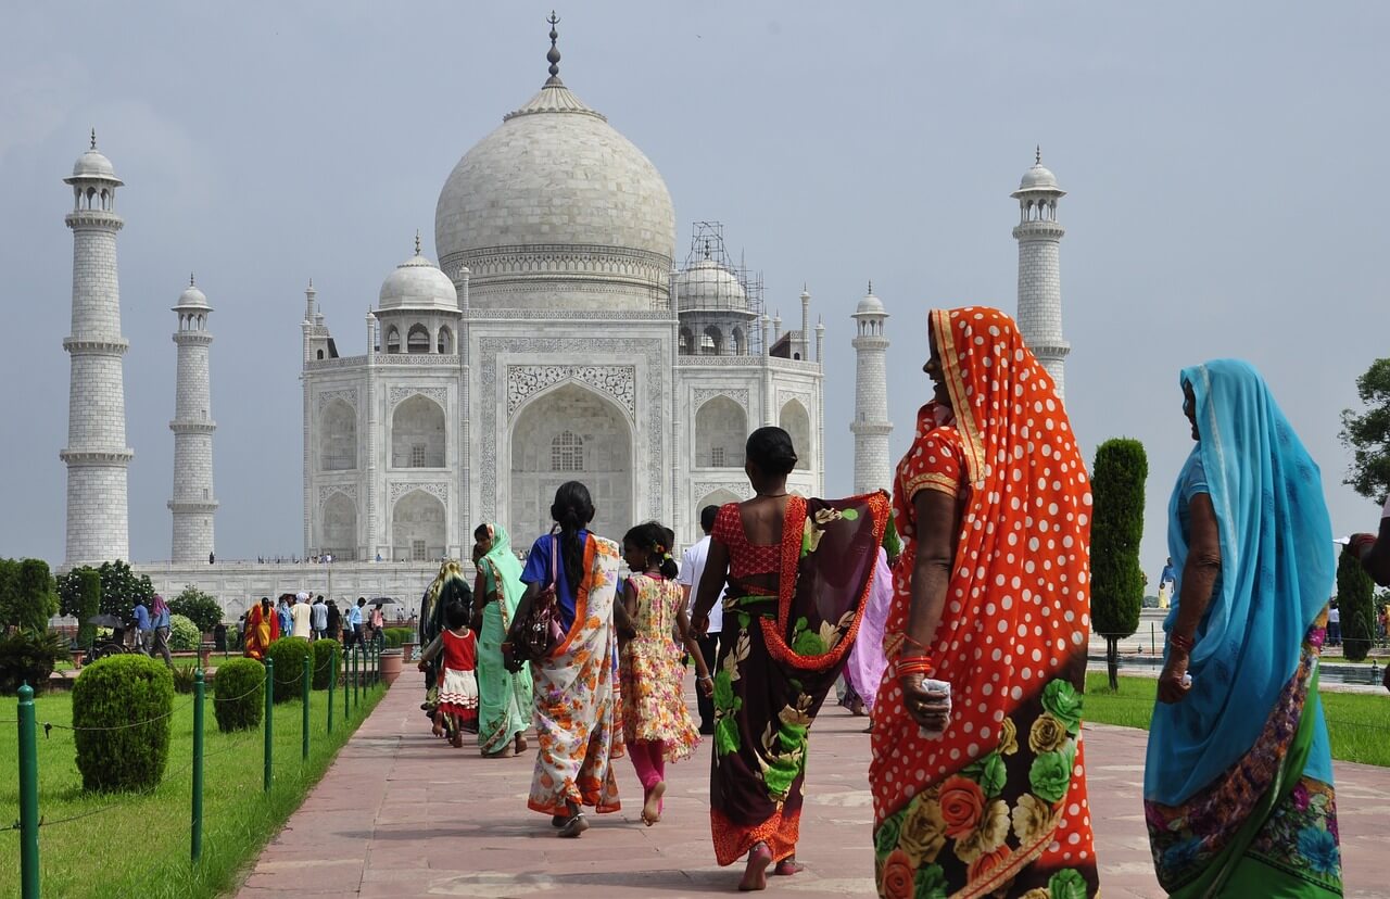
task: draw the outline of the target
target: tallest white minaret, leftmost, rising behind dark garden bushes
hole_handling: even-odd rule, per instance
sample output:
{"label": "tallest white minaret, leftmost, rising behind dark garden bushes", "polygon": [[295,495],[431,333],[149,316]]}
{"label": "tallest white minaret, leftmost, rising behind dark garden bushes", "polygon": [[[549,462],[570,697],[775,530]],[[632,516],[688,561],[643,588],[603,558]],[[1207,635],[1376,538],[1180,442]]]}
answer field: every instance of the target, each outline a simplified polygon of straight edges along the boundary
{"label": "tallest white minaret, leftmost, rising behind dark garden bushes", "polygon": [[126,467],[135,453],[125,445],[125,382],[121,357],[121,288],[115,267],[115,214],[111,161],[92,149],[78,157],[72,176],[72,335],[63,349],[72,360],[68,390],[68,446],[58,457],[68,467],[68,534],[64,566],[128,560]]}

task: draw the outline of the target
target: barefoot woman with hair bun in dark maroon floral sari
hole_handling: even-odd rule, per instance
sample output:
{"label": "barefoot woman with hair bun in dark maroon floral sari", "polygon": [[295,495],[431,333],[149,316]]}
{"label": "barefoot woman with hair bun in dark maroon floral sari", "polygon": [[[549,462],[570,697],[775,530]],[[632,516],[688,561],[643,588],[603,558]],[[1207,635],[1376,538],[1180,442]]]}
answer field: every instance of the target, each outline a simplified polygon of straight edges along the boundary
{"label": "barefoot woman with hair bun in dark maroon floral sari", "polygon": [[781,428],[748,438],[756,496],[719,510],[695,599],[696,632],[724,592],[714,674],[710,827],[714,856],[745,853],[739,889],[763,889],[767,867],[795,874],[806,739],[844,670],[888,521],[888,497],[827,502],[787,492],[796,464]]}

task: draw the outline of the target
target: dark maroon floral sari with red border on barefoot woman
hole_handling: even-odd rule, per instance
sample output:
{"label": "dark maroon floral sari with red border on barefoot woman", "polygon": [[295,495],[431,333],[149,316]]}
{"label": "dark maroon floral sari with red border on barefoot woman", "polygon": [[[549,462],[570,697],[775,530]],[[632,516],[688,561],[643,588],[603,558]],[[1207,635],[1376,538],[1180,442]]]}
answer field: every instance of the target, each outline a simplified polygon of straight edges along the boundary
{"label": "dark maroon floral sari with red border on barefoot woman", "polygon": [[720,864],[759,842],[774,860],[796,849],[810,725],[853,645],[887,520],[884,493],[791,496],[778,595],[724,599],[710,773]]}

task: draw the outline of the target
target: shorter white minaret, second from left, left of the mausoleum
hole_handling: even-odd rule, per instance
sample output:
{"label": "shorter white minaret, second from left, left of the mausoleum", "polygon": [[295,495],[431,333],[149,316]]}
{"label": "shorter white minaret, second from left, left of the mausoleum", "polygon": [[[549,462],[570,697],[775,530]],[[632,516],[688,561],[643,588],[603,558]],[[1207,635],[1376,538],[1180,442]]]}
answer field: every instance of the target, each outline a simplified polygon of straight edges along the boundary
{"label": "shorter white minaret, second from left, left of the mausoleum", "polygon": [[178,377],[174,390],[174,561],[203,561],[213,553],[213,432],[208,403],[207,356],[213,335],[207,332],[207,317],[213,307],[188,277],[188,289],[174,307],[178,314]]}

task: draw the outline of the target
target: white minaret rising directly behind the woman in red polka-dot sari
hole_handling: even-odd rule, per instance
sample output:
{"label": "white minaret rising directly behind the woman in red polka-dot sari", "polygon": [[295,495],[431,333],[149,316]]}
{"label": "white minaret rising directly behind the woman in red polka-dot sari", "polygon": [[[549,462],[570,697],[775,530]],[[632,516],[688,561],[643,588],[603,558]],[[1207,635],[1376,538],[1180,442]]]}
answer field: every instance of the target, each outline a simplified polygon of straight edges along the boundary
{"label": "white minaret rising directly behind the woman in red polka-dot sari", "polygon": [[1056,382],[1058,399],[1065,397],[1063,364],[1072,345],[1062,338],[1062,270],[1058,263],[1062,235],[1056,221],[1056,201],[1066,190],[1042,167],[1038,147],[1033,168],[1023,172],[1019,189],[1019,224],[1013,238],[1019,242],[1019,331],[1038,363]]}

